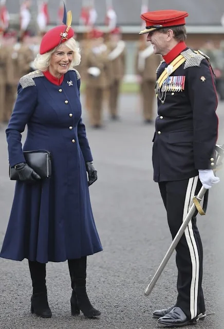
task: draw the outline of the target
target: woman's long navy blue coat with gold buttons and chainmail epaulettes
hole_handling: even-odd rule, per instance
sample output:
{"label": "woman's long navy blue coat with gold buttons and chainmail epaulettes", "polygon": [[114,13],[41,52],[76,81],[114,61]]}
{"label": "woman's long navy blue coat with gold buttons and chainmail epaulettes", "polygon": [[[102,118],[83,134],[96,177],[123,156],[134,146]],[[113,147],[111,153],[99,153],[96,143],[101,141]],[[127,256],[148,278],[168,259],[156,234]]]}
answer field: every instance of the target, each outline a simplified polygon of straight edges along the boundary
{"label": "woman's long navy blue coat with gold buttons and chainmail epaulettes", "polygon": [[2,258],[63,262],[102,250],[89,198],[85,162],[92,155],[79,90],[73,68],[60,86],[39,70],[20,80],[6,130],[9,163],[25,161],[21,133],[27,124],[23,150],[50,151],[52,176],[34,184],[16,182]]}

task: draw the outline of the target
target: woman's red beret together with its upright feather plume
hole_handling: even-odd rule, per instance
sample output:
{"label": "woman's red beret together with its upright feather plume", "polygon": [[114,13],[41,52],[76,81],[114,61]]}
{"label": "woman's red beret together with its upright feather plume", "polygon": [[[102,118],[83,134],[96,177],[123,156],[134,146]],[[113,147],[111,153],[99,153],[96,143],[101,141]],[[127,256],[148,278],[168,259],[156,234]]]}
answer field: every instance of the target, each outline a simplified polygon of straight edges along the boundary
{"label": "woman's red beret together with its upright feather plume", "polygon": [[52,50],[55,47],[59,47],[63,42],[69,40],[74,36],[74,30],[71,28],[72,14],[69,10],[66,11],[64,4],[64,15],[63,23],[64,25],[55,26],[43,36],[40,45],[40,54]]}

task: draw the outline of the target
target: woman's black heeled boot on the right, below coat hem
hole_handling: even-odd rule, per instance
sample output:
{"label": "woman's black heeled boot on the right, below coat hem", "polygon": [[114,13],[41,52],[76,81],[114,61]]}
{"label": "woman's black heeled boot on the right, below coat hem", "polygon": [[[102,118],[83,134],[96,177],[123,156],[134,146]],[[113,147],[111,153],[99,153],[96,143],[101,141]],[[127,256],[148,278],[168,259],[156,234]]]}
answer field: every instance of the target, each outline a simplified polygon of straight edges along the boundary
{"label": "woman's black heeled boot on the right, below coat hem", "polygon": [[86,293],[86,257],[68,260],[68,268],[72,288],[71,315],[79,315],[81,310],[86,317],[100,316],[101,312],[91,305]]}

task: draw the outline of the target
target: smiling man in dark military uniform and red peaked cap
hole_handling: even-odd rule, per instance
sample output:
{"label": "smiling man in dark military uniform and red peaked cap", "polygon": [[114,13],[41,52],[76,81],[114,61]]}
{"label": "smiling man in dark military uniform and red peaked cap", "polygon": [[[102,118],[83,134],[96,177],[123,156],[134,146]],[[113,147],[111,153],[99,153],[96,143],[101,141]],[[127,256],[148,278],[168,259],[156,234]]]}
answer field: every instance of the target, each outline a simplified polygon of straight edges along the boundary
{"label": "smiling man in dark military uniform and red peaked cap", "polygon": [[[156,81],[153,167],[173,239],[201,186],[209,189],[219,181],[212,170],[218,134],[214,74],[207,57],[185,45],[186,16],[176,10],[143,13],[146,28],[140,32],[148,34],[154,53],[163,56]],[[195,323],[205,312],[196,214],[176,247],[176,264],[177,300],[153,314],[168,326]]]}

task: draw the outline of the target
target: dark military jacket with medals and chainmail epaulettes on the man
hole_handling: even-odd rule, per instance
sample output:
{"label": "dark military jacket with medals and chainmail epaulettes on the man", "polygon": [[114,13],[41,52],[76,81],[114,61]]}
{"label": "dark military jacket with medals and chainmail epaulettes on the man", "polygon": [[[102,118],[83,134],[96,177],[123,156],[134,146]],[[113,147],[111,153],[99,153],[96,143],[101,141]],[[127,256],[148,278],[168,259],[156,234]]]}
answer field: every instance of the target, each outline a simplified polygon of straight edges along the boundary
{"label": "dark military jacket with medals and chainmail epaulettes on the man", "polygon": [[[218,118],[213,71],[208,60],[191,49],[181,54],[186,61],[170,75],[170,81],[177,87],[172,89],[168,79],[163,83],[168,91],[162,95],[159,90],[153,138],[156,182],[188,179],[197,176],[198,169],[214,168]],[[157,79],[168,65],[165,61],[161,63]]]}

